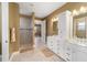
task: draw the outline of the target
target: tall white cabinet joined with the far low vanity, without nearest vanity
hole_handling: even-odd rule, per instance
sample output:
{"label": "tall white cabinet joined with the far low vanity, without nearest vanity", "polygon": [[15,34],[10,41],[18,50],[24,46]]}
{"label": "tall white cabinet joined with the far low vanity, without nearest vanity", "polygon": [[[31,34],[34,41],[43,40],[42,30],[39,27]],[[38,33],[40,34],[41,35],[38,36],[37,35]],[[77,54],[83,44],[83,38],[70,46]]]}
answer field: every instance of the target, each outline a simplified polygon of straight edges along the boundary
{"label": "tall white cabinet joined with the far low vanity, without nearest vanity", "polygon": [[65,61],[70,61],[70,47],[66,42],[66,39],[68,37],[68,25],[69,25],[69,18],[70,12],[65,11],[61,14],[58,14],[58,21],[57,21],[57,28],[58,28],[58,35],[54,36],[47,36],[47,45],[48,48],[51,48],[54,53],[59,55]]}

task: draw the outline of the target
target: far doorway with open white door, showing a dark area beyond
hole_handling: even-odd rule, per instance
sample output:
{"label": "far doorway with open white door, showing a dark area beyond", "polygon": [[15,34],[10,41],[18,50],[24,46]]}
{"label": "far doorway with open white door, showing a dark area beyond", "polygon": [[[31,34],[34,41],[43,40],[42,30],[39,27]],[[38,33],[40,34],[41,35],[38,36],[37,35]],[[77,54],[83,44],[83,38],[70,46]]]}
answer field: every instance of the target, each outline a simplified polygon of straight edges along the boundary
{"label": "far doorway with open white door, showing a dark area beyond", "polygon": [[46,45],[46,24],[45,21],[35,20],[35,47],[42,47]]}

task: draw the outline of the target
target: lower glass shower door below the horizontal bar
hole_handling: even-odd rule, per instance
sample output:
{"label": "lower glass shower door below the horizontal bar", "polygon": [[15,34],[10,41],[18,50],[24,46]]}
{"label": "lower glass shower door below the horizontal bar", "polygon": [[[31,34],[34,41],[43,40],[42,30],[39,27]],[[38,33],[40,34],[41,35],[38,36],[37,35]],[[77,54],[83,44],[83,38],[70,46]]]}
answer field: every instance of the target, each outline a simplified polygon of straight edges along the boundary
{"label": "lower glass shower door below the horizontal bar", "polygon": [[32,47],[32,30],[20,29],[20,50],[29,50]]}

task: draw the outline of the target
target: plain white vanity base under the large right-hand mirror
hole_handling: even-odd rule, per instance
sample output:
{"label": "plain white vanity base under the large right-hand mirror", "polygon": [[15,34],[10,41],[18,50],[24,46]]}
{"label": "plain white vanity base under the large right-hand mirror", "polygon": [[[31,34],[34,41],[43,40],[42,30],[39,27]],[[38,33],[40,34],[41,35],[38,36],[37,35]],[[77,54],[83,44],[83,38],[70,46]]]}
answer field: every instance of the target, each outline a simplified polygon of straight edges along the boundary
{"label": "plain white vanity base under the large right-hand mirror", "polygon": [[87,46],[81,46],[78,44],[72,44],[72,61],[73,62],[87,62]]}

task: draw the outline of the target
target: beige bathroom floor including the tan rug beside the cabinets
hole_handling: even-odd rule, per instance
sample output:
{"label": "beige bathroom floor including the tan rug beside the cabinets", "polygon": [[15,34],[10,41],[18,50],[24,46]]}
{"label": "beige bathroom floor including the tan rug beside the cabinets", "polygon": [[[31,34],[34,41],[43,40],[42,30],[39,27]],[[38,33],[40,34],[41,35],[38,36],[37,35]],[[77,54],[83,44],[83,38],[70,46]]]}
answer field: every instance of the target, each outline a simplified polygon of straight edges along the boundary
{"label": "beige bathroom floor including the tan rug beside the cabinets", "polygon": [[64,62],[45,46],[13,55],[11,62]]}

